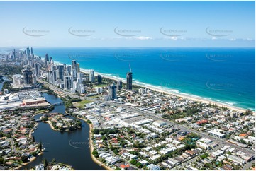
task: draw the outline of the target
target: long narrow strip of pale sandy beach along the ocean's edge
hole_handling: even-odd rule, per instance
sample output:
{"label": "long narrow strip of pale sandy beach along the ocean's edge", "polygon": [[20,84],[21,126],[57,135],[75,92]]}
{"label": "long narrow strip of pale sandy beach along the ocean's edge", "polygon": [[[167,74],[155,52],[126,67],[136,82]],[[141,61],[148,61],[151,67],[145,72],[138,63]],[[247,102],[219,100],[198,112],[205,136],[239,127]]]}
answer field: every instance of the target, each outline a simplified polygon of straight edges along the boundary
{"label": "long narrow strip of pale sandy beach along the ocean's edge", "polygon": [[[87,69],[81,69],[81,71],[83,73],[88,73]],[[95,76],[97,76],[97,75],[101,75],[101,76],[103,76],[105,78],[113,79],[115,81],[119,80],[116,77],[107,76],[106,74],[95,72]],[[141,85],[139,83],[133,83],[133,85],[144,87],[144,88],[148,88],[148,89],[151,89],[151,90],[155,90],[155,91],[160,92],[160,93],[166,93],[166,94],[169,94],[169,95],[175,95],[177,97],[185,98],[185,99],[188,99],[188,100],[194,100],[194,101],[202,102],[202,103],[206,103],[206,104],[208,104],[208,103],[216,104],[219,107],[227,107],[230,110],[234,110],[234,111],[238,111],[238,112],[245,112],[247,110],[247,109],[243,109],[243,108],[240,108],[240,107],[235,107],[235,106],[232,106],[232,105],[224,104],[222,102],[216,102],[216,101],[213,101],[213,100],[207,100],[207,99],[200,98],[200,97],[194,97],[192,95],[183,95],[183,94],[180,94],[180,93],[174,93],[171,90],[167,90],[167,88],[157,88],[156,86],[149,86],[149,85],[145,86],[145,85]],[[255,112],[253,112],[253,113],[255,114]]]}

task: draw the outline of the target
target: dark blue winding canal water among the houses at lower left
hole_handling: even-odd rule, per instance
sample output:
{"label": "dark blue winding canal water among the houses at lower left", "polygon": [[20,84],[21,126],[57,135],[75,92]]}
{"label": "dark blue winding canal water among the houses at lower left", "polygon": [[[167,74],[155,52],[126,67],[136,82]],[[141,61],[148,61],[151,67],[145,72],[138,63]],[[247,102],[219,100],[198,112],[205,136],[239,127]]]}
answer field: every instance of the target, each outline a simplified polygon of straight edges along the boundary
{"label": "dark blue winding canal water among the houses at lower left", "polygon": [[[61,102],[60,98],[55,95],[43,94],[46,100],[50,103]],[[65,113],[64,105],[57,105],[52,112]],[[39,119],[41,114],[36,115],[34,118]],[[89,148],[89,125],[82,121],[82,129],[69,132],[53,131],[49,124],[39,122],[38,129],[33,133],[35,141],[41,142],[45,151],[36,160],[24,166],[24,169],[30,169],[35,165],[39,165],[43,158],[48,162],[53,158],[57,163],[67,163],[72,165],[74,170],[104,170],[93,160],[91,160]]]}

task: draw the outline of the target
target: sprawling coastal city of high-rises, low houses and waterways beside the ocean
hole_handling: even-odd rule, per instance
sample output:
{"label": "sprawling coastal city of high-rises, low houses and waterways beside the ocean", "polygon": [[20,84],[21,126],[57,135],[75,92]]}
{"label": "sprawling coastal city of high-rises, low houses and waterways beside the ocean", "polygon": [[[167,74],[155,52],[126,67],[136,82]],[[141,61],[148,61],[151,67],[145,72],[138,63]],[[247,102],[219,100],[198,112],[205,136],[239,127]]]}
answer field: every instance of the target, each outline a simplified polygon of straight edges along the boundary
{"label": "sprawling coastal city of high-rises, low houses and waterways beside the ocean", "polygon": [[254,170],[255,111],[132,84],[131,67],[125,88],[50,55],[1,54],[2,170]]}

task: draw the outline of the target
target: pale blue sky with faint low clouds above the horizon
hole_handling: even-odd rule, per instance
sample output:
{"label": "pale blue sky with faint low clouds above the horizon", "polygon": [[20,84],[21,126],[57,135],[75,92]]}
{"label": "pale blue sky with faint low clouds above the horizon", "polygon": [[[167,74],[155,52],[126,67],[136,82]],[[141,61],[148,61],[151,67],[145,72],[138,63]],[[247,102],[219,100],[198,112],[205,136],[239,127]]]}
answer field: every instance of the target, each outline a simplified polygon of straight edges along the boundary
{"label": "pale blue sky with faint low clouds above the horizon", "polygon": [[0,47],[255,47],[255,1],[0,1]]}

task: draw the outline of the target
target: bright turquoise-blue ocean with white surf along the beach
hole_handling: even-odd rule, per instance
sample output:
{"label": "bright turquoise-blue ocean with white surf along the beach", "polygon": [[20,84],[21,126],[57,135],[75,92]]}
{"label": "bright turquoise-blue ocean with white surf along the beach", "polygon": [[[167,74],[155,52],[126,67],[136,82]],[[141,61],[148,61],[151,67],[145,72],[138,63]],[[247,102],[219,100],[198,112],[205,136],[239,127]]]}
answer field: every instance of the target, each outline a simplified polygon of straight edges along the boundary
{"label": "bright turquoise-blue ocean with white surf along the beach", "polygon": [[82,69],[123,81],[131,69],[135,83],[255,110],[255,48],[60,47],[33,52],[65,64],[76,60]]}

